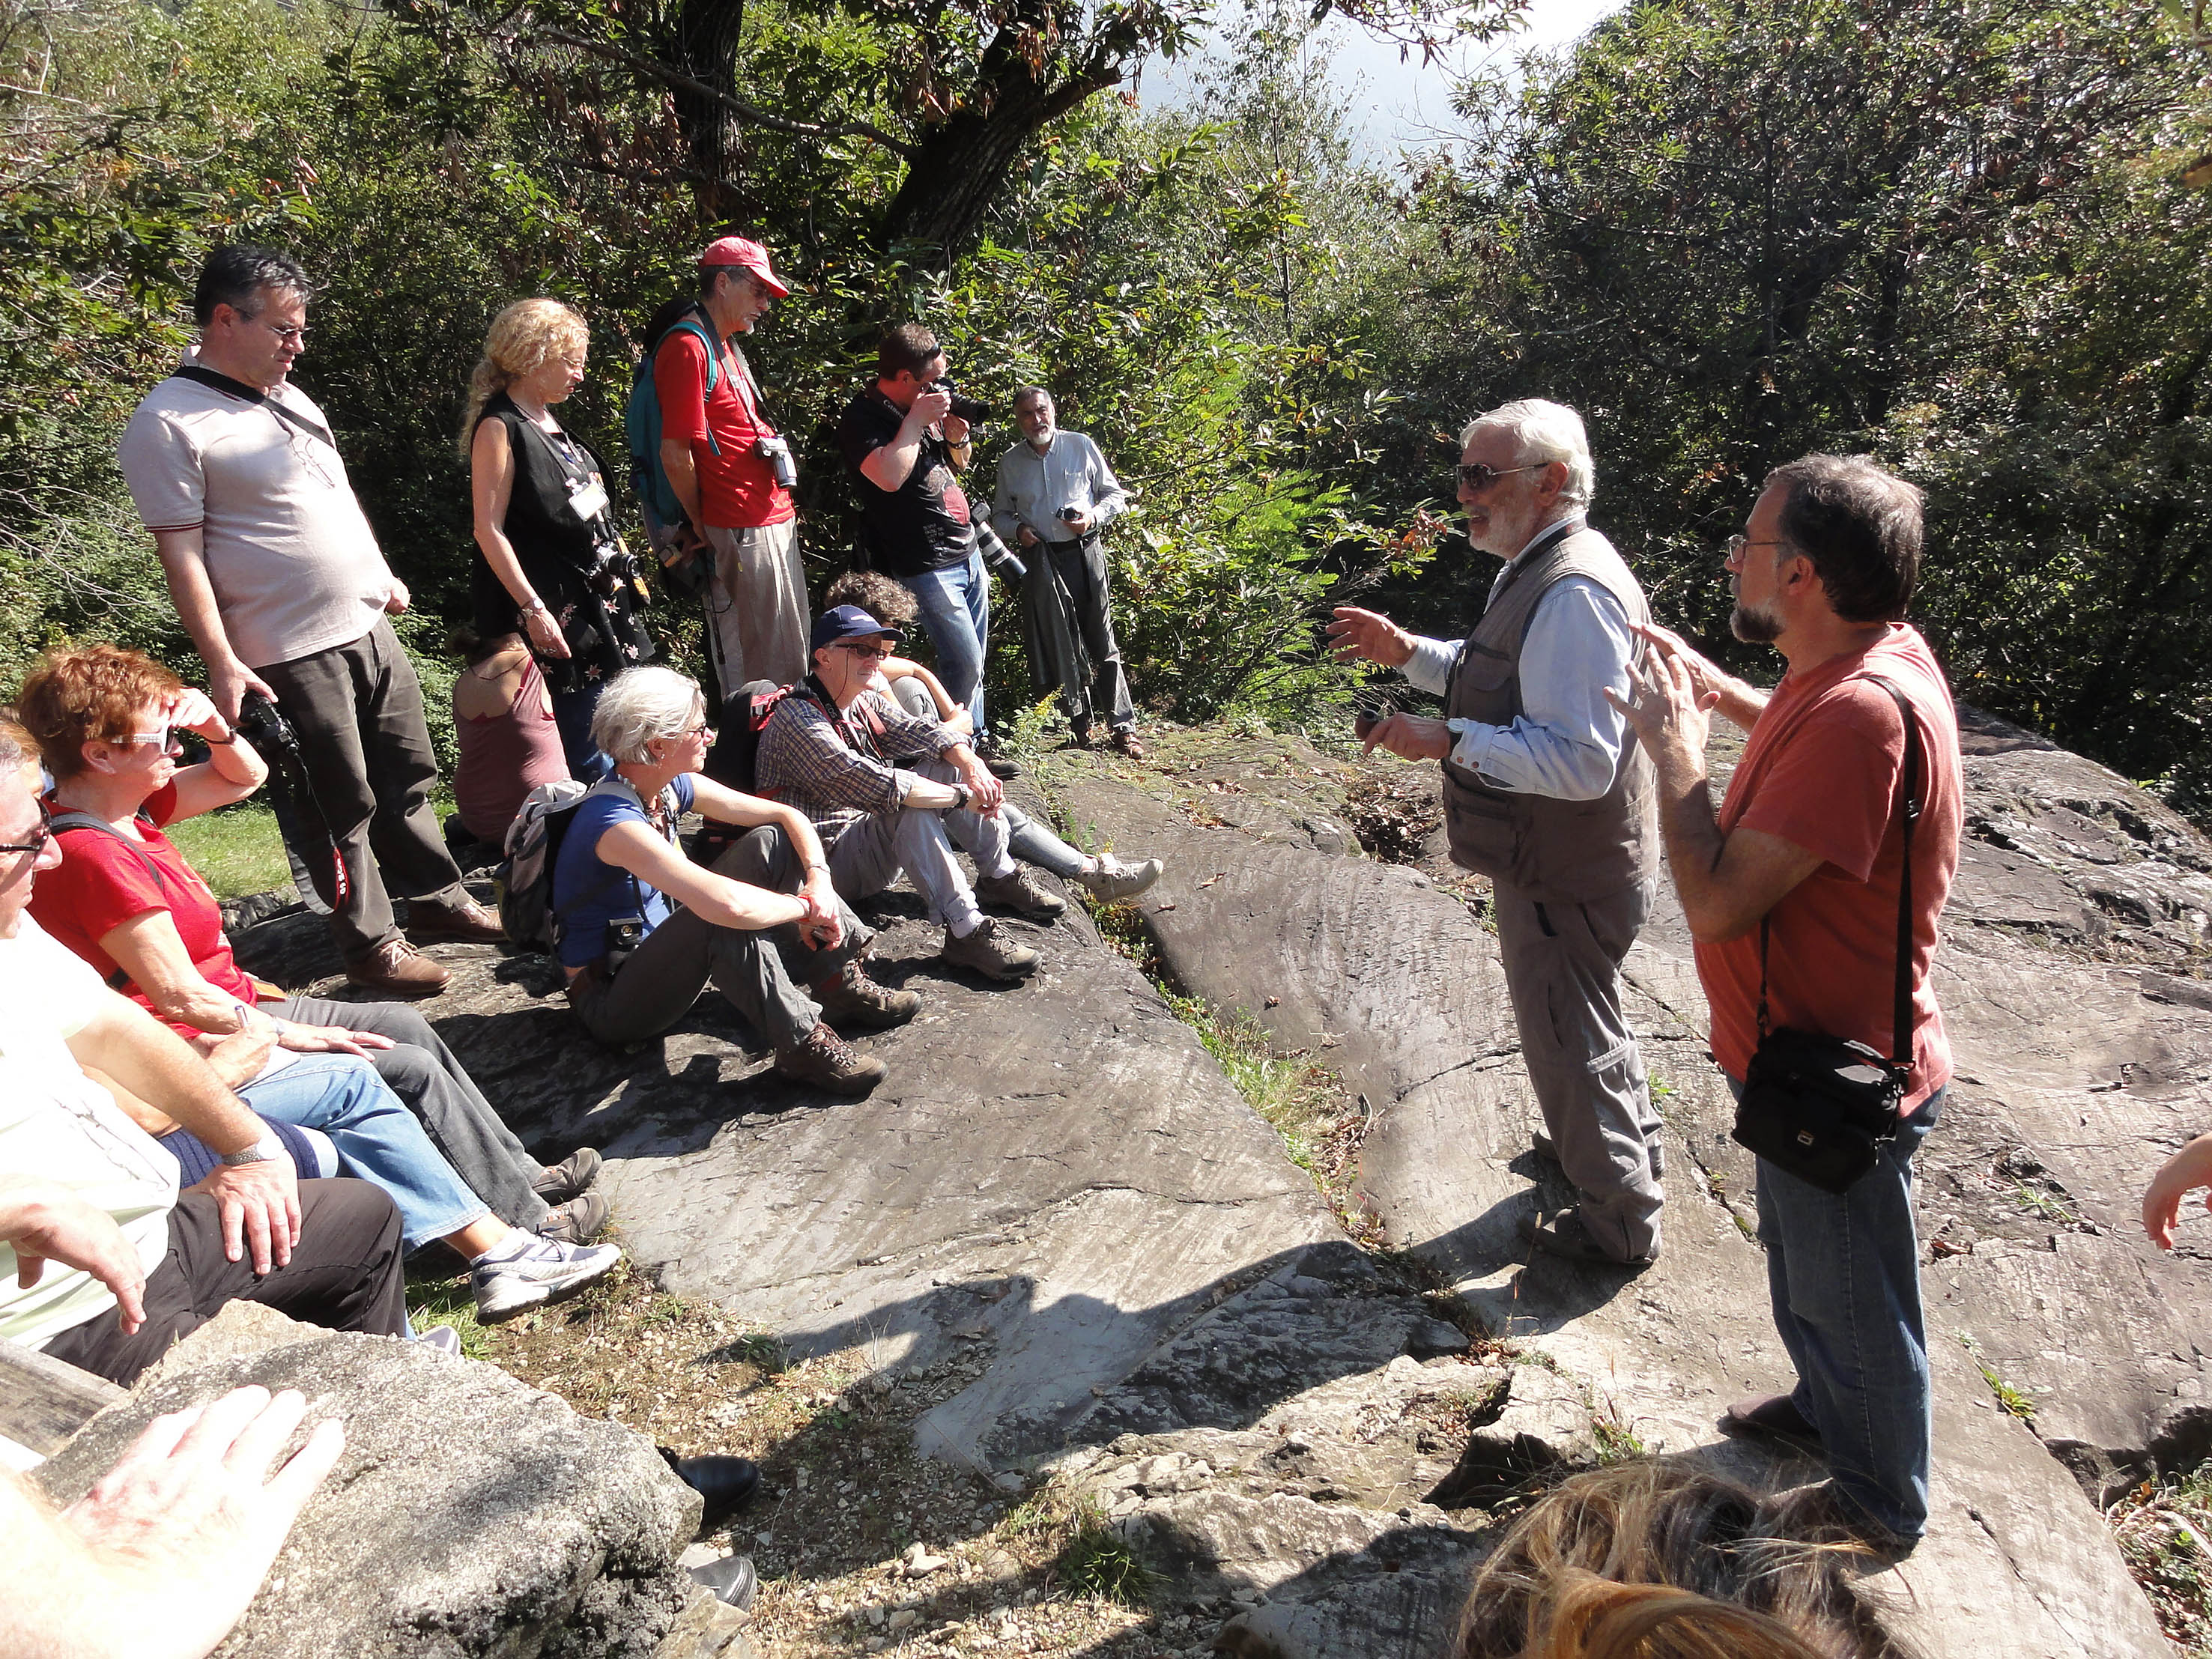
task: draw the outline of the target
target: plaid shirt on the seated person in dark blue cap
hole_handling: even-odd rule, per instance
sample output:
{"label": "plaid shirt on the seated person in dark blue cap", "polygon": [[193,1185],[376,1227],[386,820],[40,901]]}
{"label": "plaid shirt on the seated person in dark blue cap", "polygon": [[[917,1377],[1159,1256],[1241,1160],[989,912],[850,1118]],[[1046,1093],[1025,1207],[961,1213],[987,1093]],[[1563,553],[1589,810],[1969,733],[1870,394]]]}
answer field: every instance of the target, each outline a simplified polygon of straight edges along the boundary
{"label": "plaid shirt on the seated person in dark blue cap", "polygon": [[[816,692],[818,695],[818,692]],[[843,717],[834,703],[792,690],[761,732],[754,781],[814,821],[823,849],[852,825],[898,812],[920,779],[891,761],[933,761],[964,739],[918,719],[883,692],[860,692]]]}

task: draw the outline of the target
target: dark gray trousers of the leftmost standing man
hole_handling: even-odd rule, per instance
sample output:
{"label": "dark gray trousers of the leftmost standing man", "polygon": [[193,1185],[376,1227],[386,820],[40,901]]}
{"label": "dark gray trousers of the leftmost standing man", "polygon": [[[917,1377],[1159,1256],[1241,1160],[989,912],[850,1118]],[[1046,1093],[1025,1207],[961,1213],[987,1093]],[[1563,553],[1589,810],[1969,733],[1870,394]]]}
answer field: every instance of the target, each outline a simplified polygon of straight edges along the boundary
{"label": "dark gray trousers of the leftmost standing man", "polygon": [[422,686],[389,622],[349,646],[254,672],[299,732],[307,783],[345,860],[338,905],[330,858],[307,849],[307,872],[330,905],[330,933],[347,967],[398,938],[392,898],[453,905],[467,898],[431,812],[438,754],[422,723]]}

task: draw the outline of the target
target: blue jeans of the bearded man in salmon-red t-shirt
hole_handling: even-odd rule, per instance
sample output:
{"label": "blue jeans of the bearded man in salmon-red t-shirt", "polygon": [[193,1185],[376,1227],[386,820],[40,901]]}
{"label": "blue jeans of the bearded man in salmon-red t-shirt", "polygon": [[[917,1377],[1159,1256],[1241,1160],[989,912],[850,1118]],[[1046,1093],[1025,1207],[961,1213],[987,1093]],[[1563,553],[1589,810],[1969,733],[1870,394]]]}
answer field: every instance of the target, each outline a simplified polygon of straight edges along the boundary
{"label": "blue jeans of the bearded man in salmon-red t-shirt", "polygon": [[[1730,1079],[1736,1095],[1743,1086]],[[1849,1192],[1823,1192],[1759,1159],[1767,1294],[1836,1486],[1898,1537],[1929,1524],[1933,1389],[1920,1316],[1913,1152],[1942,1115],[1938,1088],[1898,1124]]]}

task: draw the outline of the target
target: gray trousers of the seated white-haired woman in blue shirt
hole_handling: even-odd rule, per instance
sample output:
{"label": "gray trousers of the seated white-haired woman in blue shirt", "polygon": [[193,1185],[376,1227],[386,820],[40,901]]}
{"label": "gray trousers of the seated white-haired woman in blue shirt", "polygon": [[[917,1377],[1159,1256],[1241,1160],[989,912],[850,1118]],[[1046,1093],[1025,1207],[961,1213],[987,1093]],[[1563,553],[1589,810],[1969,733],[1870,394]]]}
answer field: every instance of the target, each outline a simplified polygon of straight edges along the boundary
{"label": "gray trousers of the seated white-haired woman in blue shirt", "polygon": [[[763,825],[717,858],[714,874],[796,894],[805,869],[783,832]],[[644,1042],[681,1020],[712,980],[774,1048],[792,1048],[821,1022],[821,1009],[801,987],[838,978],[874,938],[845,905],[838,905],[838,920],[845,936],[816,951],[799,936],[796,922],[748,933],[679,909],[630,951],[613,980],[597,980],[580,995],[575,1011],[604,1044]]]}

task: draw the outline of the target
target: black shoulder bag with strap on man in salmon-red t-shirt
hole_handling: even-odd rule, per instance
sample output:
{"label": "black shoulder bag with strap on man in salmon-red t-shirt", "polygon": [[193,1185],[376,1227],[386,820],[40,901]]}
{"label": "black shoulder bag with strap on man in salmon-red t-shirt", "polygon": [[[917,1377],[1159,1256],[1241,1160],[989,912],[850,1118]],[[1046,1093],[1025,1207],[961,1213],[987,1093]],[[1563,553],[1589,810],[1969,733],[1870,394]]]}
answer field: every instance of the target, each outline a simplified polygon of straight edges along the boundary
{"label": "black shoulder bag with strap on man in salmon-red t-shirt", "polygon": [[1759,1048],[1736,1102],[1739,1146],[1820,1188],[1847,1192],[1898,1135],[1913,1066],[1913,823],[1920,818],[1920,721],[1880,675],[1867,675],[1905,717],[1905,869],[1898,880],[1898,991],[1891,1053],[1818,1031],[1767,1031],[1767,922],[1759,922]]}

